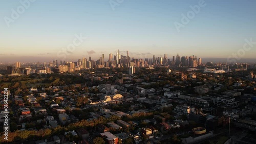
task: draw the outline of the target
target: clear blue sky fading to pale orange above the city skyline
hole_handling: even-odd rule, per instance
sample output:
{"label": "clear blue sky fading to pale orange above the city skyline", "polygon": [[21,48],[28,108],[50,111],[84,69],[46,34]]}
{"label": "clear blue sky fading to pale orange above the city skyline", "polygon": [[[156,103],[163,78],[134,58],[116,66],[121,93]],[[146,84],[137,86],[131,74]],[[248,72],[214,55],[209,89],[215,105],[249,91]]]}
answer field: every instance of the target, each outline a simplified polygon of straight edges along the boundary
{"label": "clear blue sky fading to pale orange above the city skyline", "polygon": [[255,7],[253,0],[0,1],[0,62],[107,60],[118,49],[134,58],[254,59]]}

